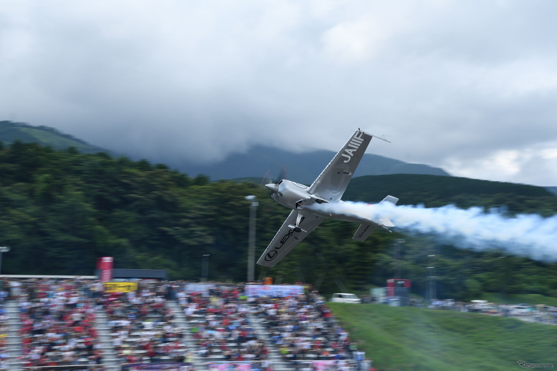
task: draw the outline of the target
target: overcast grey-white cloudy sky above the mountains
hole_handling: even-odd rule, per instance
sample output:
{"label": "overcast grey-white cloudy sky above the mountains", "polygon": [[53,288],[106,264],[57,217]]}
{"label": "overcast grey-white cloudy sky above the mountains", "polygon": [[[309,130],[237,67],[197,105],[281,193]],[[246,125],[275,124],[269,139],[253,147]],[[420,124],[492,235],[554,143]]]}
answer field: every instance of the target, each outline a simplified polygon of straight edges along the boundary
{"label": "overcast grey-white cloudy sky above the mountains", "polygon": [[265,144],[557,186],[557,3],[3,1],[0,119],[154,161]]}

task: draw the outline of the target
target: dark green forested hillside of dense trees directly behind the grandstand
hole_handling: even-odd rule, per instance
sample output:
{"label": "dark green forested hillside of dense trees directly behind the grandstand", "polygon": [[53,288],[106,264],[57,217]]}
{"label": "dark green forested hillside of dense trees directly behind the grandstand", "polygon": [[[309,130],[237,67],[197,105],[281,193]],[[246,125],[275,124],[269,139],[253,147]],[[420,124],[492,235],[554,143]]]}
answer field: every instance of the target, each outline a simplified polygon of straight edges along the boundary
{"label": "dark green forested hillside of dense trees directly behind the grandstand", "polygon": [[[88,275],[97,257],[114,256],[116,268],[168,269],[172,279],[196,280],[201,257],[208,253],[209,279],[244,281],[248,235],[244,197],[255,194],[260,200],[257,255],[289,213],[259,184],[208,182],[163,164],[105,153],[80,154],[72,148],[59,152],[16,141],[0,149],[0,174],[0,246],[12,248],[3,256],[4,274]],[[353,182],[350,187],[358,186],[358,178]],[[416,179],[407,187],[406,192],[421,189]],[[469,188],[465,187],[468,193]],[[429,189],[424,197],[433,198],[434,192]],[[514,210],[550,212],[553,206],[548,201],[553,196],[528,192],[523,192],[523,199],[509,200],[516,202]],[[380,197],[383,193],[408,203],[401,197],[404,192],[380,192]],[[500,206],[497,202],[483,206]],[[315,283],[325,274],[322,292],[339,290],[333,277],[349,289],[362,290],[383,286],[400,263],[402,276],[413,280],[413,291],[423,294],[426,266],[431,263],[427,255],[434,252],[439,297],[470,298],[483,291],[557,295],[555,264],[511,256],[500,259],[499,252],[457,250],[438,245],[432,237],[396,232],[376,231],[360,243],[351,240],[356,228],[326,221],[275,268],[261,271],[257,266],[256,276]],[[401,237],[407,242],[399,261],[393,241]]]}

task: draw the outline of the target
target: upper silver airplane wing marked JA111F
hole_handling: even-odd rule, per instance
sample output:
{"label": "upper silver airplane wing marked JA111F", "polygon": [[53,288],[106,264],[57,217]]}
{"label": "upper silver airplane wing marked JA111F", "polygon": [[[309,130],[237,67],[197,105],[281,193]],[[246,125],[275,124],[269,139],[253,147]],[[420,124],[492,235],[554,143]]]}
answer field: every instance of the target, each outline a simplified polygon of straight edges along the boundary
{"label": "upper silver airplane wing marked JA111F", "polygon": [[342,196],[352,174],[360,163],[373,135],[356,131],[346,142],[329,165],[321,172],[307,192],[316,194],[329,201],[338,201]]}

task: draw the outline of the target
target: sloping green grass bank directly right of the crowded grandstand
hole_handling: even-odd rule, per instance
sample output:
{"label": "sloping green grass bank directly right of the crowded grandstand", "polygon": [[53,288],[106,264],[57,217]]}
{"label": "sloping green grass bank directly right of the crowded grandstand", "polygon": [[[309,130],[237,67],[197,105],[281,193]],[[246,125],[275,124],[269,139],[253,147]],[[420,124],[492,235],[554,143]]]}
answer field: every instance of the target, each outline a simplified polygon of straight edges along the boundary
{"label": "sloping green grass bank directly right of the crowded grandstand", "polygon": [[475,313],[330,303],[380,371],[557,367],[557,326]]}

